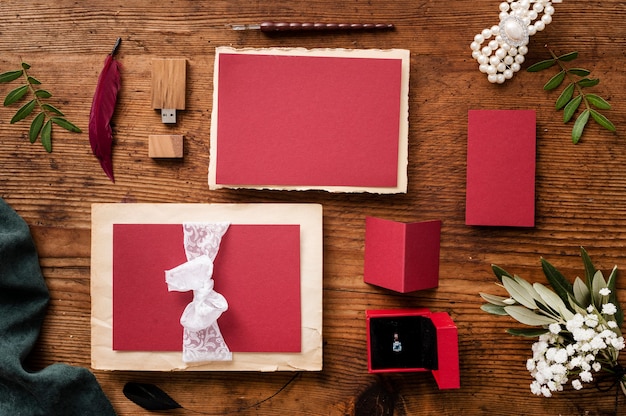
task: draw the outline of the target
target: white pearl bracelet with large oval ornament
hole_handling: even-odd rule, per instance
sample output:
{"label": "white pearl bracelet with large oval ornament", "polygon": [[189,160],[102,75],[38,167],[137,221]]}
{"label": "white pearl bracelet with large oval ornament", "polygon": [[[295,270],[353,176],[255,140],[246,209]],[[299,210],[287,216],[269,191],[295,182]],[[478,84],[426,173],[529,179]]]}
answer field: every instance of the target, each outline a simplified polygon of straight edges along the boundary
{"label": "white pearl bracelet with large oval ornament", "polygon": [[480,72],[487,74],[489,82],[502,84],[513,78],[528,53],[530,36],[552,22],[552,3],[561,1],[507,0],[500,3],[500,24],[484,29],[470,44],[472,58],[478,62]]}

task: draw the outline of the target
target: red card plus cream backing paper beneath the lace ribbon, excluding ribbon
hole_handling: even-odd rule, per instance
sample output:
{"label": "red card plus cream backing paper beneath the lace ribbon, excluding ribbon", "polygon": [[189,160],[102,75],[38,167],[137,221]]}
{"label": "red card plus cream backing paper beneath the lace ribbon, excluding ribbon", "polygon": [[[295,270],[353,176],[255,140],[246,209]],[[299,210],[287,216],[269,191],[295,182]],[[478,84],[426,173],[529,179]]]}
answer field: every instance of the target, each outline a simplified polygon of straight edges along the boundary
{"label": "red card plus cream backing paper beneath the lace ribbon, excluding ribbon", "polygon": [[[182,311],[165,270],[187,261],[183,223],[228,222],[214,262],[233,361],[182,362]],[[321,206],[94,204],[92,366],[108,370],[321,369]]]}

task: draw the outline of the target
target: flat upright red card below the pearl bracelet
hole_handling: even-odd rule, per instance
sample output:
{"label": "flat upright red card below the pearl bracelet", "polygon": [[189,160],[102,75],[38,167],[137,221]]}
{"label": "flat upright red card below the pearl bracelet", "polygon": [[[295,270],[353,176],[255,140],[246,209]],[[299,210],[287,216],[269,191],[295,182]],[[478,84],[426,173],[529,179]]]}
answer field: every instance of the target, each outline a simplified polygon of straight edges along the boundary
{"label": "flat upright red card below the pearl bracelet", "polygon": [[534,110],[470,110],[465,223],[535,225]]}

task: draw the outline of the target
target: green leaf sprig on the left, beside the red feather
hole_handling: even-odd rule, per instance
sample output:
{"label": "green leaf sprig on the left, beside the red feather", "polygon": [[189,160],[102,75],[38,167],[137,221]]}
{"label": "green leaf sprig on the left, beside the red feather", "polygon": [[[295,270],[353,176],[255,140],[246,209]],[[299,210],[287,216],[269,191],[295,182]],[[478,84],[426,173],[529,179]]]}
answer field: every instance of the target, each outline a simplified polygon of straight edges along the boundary
{"label": "green leaf sprig on the left, beside the red feather", "polygon": [[41,144],[44,149],[47,152],[52,152],[52,123],[75,133],[80,133],[81,130],[68,121],[58,108],[44,101],[52,97],[52,94],[38,87],[41,85],[41,82],[28,74],[29,69],[30,65],[22,62],[22,69],[0,74],[0,83],[15,81],[18,78],[23,78],[25,81],[24,85],[11,90],[7,94],[4,99],[4,106],[8,107],[23,100],[30,91],[33,98],[17,110],[13,118],[11,118],[11,124],[25,119],[33,113],[35,108],[38,108],[39,113],[31,122],[28,138],[31,143],[34,143],[38,137],[41,137]]}

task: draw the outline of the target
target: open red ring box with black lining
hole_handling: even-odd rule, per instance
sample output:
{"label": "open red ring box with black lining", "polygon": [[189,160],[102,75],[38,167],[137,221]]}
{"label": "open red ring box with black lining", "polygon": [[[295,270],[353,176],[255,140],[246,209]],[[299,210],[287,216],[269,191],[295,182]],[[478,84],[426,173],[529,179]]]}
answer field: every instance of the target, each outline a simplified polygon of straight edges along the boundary
{"label": "open red ring box with black lining", "polygon": [[[365,311],[370,373],[432,372],[440,389],[460,387],[457,328],[426,308]],[[401,351],[392,348],[394,337]]]}

